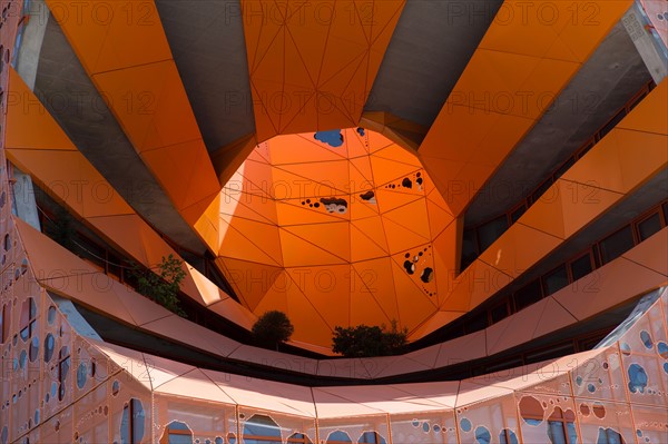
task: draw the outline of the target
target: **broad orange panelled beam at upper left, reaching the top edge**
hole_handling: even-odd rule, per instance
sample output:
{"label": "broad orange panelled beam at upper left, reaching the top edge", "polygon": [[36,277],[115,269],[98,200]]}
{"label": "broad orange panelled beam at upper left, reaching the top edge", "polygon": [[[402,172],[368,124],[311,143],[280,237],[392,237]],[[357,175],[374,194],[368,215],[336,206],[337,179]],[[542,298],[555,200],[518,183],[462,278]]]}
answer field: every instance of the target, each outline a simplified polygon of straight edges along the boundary
{"label": "broad orange panelled beam at upper left, reaching the top edge", "polygon": [[144,162],[195,224],[220,186],[154,1],[47,4]]}

